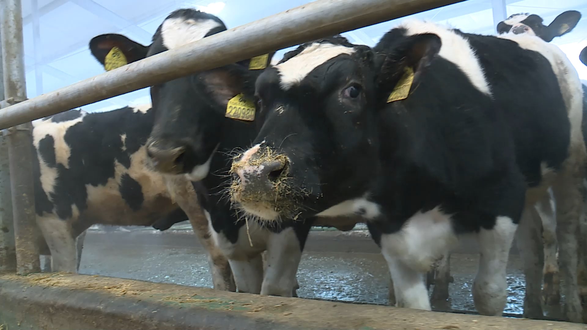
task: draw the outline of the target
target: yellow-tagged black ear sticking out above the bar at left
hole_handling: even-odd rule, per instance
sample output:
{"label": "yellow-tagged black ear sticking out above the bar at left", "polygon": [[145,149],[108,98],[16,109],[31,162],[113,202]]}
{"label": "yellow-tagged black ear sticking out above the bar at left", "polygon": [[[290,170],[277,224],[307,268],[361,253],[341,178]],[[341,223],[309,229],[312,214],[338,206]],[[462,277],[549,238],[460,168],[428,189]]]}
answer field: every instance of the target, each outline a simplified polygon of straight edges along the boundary
{"label": "yellow-tagged black ear sticking out above the bar at left", "polygon": [[99,35],[90,41],[92,55],[107,71],[146,58],[147,50],[149,47],[118,34]]}

